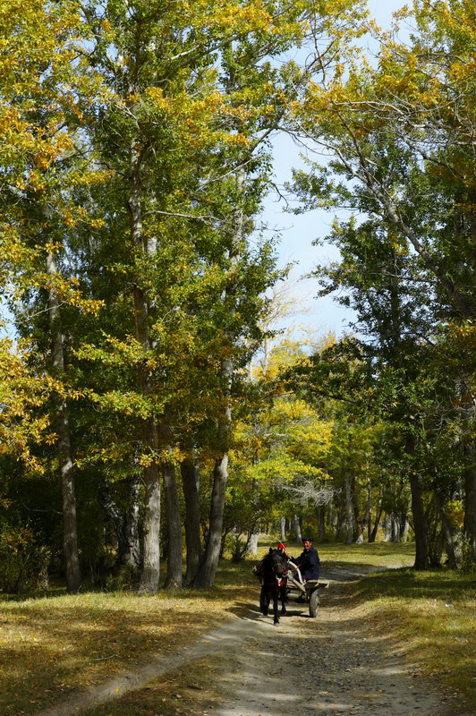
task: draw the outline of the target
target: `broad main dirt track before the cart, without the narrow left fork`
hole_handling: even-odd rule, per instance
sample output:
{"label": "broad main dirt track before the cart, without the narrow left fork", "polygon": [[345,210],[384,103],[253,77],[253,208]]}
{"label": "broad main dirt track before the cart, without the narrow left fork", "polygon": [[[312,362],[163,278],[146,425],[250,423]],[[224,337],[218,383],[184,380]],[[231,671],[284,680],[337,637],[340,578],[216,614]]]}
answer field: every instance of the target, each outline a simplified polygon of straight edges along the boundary
{"label": "broad main dirt track before the cart, without the narrow left fork", "polygon": [[395,644],[346,607],[344,578],[358,575],[332,576],[316,619],[293,601],[279,626],[256,610],[255,638],[236,655],[242,678],[216,716],[455,716]]}

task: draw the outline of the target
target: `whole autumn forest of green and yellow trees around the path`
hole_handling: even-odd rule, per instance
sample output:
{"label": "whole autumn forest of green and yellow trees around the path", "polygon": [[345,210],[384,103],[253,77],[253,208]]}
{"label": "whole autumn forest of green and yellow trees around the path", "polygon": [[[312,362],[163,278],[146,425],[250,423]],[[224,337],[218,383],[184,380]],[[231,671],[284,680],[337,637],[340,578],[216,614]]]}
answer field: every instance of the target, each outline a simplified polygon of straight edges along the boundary
{"label": "whole autumn forest of green and yellow trees around the path", "polygon": [[[0,0],[1,592],[205,589],[259,533],[475,567],[476,6],[394,22]],[[344,336],[276,328],[276,191]]]}

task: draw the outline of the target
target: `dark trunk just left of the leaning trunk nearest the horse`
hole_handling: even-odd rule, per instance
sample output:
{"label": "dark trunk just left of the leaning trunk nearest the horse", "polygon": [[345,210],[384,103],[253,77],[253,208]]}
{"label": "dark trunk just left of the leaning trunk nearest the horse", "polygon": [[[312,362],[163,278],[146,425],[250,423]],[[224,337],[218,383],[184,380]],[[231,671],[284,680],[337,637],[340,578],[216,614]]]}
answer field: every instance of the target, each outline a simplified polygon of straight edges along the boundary
{"label": "dark trunk just left of the leaning trunk nearest the horse", "polygon": [[186,457],[180,465],[182,475],[183,498],[185,500],[185,546],[187,567],[183,584],[189,586],[195,579],[201,556],[200,541],[200,473],[191,457]]}

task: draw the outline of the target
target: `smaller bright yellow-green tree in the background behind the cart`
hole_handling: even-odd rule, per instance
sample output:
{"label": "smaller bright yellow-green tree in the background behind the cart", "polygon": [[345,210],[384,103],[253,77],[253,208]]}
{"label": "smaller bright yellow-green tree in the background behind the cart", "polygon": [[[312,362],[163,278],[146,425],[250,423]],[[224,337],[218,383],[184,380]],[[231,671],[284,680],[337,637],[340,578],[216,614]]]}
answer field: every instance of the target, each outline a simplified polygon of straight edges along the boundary
{"label": "smaller bright yellow-green tree in the background behind the cart", "polygon": [[[300,361],[302,349],[283,341],[268,354],[267,371],[259,368],[243,387],[241,408],[234,426],[229,490],[233,501],[225,509],[229,530],[242,550],[251,534],[276,524],[283,514],[302,514],[309,507],[305,490],[314,494],[327,485],[326,456],[332,422],[285,390],[280,372]],[[310,492],[309,492],[310,494]],[[304,504],[305,503],[305,504]],[[311,508],[316,507],[310,500]],[[238,543],[237,543],[237,546]]]}

